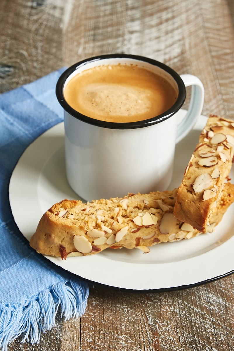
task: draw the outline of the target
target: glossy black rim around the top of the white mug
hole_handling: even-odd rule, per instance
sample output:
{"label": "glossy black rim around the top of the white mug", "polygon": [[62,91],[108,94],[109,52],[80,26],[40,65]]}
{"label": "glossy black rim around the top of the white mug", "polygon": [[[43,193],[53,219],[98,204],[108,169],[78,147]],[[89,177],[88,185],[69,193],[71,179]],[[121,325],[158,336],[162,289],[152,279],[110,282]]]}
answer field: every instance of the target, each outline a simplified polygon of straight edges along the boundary
{"label": "glossy black rim around the top of the white mug", "polygon": [[[116,122],[106,122],[102,120],[97,120],[88,116],[83,115],[80,112],[77,112],[74,110],[66,100],[64,99],[63,96],[63,87],[64,84],[67,80],[67,78],[70,76],[71,73],[73,73],[76,69],[78,69],[80,66],[83,66],[85,64],[89,64],[90,61],[98,61],[98,60],[103,60],[103,59],[112,59],[112,58],[129,58],[137,61],[143,61],[147,62],[151,65],[158,66],[159,68],[163,69],[167,73],[169,73],[175,80],[175,82],[178,85],[178,91],[180,92],[177,100],[175,101],[174,105],[164,113],[150,118],[146,119],[143,121],[136,121],[136,122],[123,122],[123,123],[116,123]],[[135,129],[135,128],[143,128],[147,127],[150,125],[157,124],[159,122],[162,122],[170,117],[172,117],[176,112],[179,111],[181,106],[183,106],[185,98],[186,98],[186,88],[184,85],[183,80],[179,76],[177,72],[175,72],[171,67],[163,64],[162,62],[156,61],[154,59],[150,59],[147,57],[139,56],[139,55],[128,55],[128,54],[108,54],[108,55],[99,55],[95,57],[91,57],[82,61],[77,62],[76,64],[70,66],[67,68],[59,77],[57,84],[56,84],[56,97],[58,99],[58,102],[60,105],[63,107],[65,111],[67,111],[70,115],[73,117],[84,121],[86,123],[102,127],[102,128],[111,128],[111,129]]]}

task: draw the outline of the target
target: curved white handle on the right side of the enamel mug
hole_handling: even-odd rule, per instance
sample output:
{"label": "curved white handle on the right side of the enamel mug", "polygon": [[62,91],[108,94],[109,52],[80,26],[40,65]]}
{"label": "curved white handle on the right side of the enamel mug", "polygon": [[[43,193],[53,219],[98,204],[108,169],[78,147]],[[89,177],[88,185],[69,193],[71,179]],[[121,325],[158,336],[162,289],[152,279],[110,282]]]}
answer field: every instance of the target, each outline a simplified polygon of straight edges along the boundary
{"label": "curved white handle on the right side of the enamel mug", "polygon": [[191,85],[192,90],[188,111],[177,126],[176,143],[183,139],[194,127],[204,104],[204,86],[200,79],[192,74],[181,74],[180,78],[186,87]]}

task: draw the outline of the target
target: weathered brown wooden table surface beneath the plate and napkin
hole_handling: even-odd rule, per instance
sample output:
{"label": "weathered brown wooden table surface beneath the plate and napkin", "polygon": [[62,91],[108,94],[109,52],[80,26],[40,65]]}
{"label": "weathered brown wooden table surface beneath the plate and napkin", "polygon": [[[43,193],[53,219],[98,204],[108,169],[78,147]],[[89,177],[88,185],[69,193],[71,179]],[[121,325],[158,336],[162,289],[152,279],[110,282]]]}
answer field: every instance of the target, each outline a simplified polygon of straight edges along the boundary
{"label": "weathered brown wooden table surface beneath the plate and napkin", "polygon": [[[233,0],[1,0],[0,38],[1,92],[87,57],[123,52],[197,75],[203,114],[234,117]],[[234,275],[149,294],[90,286],[83,317],[57,318],[39,345],[18,338],[9,351],[233,351],[233,306]]]}

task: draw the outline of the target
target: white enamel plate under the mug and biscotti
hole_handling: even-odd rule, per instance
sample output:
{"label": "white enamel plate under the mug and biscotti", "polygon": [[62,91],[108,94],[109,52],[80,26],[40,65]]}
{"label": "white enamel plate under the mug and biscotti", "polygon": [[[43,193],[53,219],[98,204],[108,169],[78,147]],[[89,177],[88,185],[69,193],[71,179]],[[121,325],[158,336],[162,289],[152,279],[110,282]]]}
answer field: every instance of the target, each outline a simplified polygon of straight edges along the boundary
{"label": "white enamel plate under the mug and biscotti", "polygon": [[[206,120],[207,117],[201,116],[192,132],[177,145],[170,189],[180,185]],[[9,185],[12,214],[28,240],[42,214],[54,203],[64,198],[79,199],[67,183],[63,138],[64,125],[60,123],[26,149],[12,173]],[[233,173],[232,169],[231,178]],[[147,254],[134,249],[106,249],[67,260],[49,256],[46,259],[48,265],[51,261],[84,280],[121,289],[161,291],[194,286],[234,271],[233,215],[234,204],[213,233],[154,245]]]}

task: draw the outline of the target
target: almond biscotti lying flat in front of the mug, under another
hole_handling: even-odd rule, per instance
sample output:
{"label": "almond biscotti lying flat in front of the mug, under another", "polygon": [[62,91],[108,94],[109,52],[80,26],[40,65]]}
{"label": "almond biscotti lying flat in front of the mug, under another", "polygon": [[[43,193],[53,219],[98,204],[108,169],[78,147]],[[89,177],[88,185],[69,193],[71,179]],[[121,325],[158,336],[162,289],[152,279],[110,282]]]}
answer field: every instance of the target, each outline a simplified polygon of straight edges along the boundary
{"label": "almond biscotti lying flat in front of the mug, under another", "polygon": [[[154,244],[190,239],[199,231],[174,217],[177,191],[128,194],[86,204],[65,199],[42,216],[30,245],[42,254],[66,259],[107,248],[136,247],[146,253]],[[213,231],[233,201],[234,185],[227,183],[208,231]]]}

